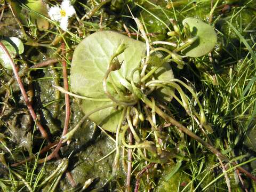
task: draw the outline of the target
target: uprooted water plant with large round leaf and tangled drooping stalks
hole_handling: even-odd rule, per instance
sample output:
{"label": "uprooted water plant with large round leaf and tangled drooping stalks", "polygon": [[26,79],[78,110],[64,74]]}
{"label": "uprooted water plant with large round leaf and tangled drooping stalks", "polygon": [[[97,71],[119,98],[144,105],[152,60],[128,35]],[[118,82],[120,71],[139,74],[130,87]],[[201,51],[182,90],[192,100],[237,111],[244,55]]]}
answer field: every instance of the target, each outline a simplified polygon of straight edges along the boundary
{"label": "uprooted water plant with large round leaf and tangled drooping stalks", "polygon": [[[138,155],[149,162],[165,163],[172,157],[185,158],[164,149],[163,143],[159,143],[159,139],[163,139],[158,128],[159,123],[156,121],[159,117],[176,126],[174,132],[180,138],[180,145],[184,142],[183,133],[186,133],[212,148],[170,114],[165,113],[161,109],[161,103],[170,102],[174,98],[189,116],[197,120],[205,134],[213,132],[206,121],[196,93],[189,85],[174,78],[170,61],[176,63],[178,68],[182,68],[185,65],[183,58],[187,57],[183,55],[183,50],[190,49],[184,52],[191,54],[195,49],[197,53],[194,56],[202,52],[198,51],[198,47],[204,49],[205,54],[211,51],[215,45],[214,29],[198,19],[190,18],[184,21],[186,29],[180,31],[177,23],[172,21],[174,30],[169,31],[169,35],[175,36],[179,41],[175,42],[178,46],[171,50],[165,47],[153,47],[153,44],[158,43],[150,44],[140,21],[134,19],[146,43],[114,31],[99,31],[86,37],[76,47],[71,64],[71,90],[78,95],[77,102],[86,114],[85,118],[89,117],[103,129],[116,133],[113,172],[118,168],[118,148],[121,145],[119,137],[122,138],[122,145],[126,148],[136,148]],[[190,23],[198,33],[190,30]],[[201,26],[203,26],[202,30]],[[210,45],[205,45],[203,34],[209,36],[208,31],[205,30],[206,26],[213,30],[213,33],[212,31],[210,33],[213,38]],[[194,46],[194,43],[197,46]],[[191,105],[181,86],[191,93],[198,105],[199,113],[197,107]],[[178,92],[178,95],[175,92]],[[153,137],[150,136],[148,139],[142,138],[138,130],[139,125],[140,127],[143,125],[145,116],[153,132]],[[63,138],[71,139],[76,129],[78,126]],[[134,145],[126,142],[125,135],[128,129],[135,139]],[[142,150],[148,151],[149,156],[143,154]],[[211,150],[217,153],[215,149]]]}

